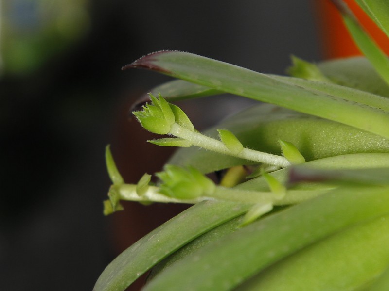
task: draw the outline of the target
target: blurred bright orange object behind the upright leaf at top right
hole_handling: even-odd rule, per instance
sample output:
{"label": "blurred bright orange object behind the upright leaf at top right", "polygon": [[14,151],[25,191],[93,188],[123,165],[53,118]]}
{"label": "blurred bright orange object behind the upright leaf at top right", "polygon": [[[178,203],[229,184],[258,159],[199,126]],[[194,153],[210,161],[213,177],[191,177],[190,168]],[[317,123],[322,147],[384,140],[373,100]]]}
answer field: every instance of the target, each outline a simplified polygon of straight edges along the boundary
{"label": "blurred bright orange object behind the upright leaf at top right", "polygon": [[[389,38],[372,21],[369,16],[358,6],[355,0],[344,0],[355,16],[362,23],[363,27],[381,49],[389,54]],[[335,6],[328,0],[317,1],[317,15],[321,27],[323,40],[323,53],[326,59],[341,58],[361,55],[362,53],[354,44],[343,24],[342,18]]]}

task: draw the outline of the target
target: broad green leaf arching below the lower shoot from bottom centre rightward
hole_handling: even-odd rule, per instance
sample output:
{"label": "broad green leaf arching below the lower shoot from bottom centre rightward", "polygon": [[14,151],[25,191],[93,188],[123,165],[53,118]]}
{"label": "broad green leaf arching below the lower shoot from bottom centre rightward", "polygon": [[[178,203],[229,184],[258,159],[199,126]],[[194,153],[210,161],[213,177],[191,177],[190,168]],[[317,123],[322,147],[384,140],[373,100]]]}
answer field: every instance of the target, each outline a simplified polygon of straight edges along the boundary
{"label": "broad green leaf arching below the lower shoot from bottom centre rightward", "polygon": [[313,242],[389,213],[388,191],[341,189],[269,215],[181,259],[143,290],[231,290]]}

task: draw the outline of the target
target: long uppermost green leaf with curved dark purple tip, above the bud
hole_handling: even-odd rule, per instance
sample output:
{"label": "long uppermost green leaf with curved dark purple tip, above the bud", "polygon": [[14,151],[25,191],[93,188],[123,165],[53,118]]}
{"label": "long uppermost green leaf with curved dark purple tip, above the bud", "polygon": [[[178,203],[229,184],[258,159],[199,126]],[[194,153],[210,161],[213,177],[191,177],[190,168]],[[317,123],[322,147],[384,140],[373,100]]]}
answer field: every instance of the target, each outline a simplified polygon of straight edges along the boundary
{"label": "long uppermost green leaf with curved dark purple tip, above the bud", "polygon": [[127,67],[153,69],[179,79],[274,103],[389,138],[389,127],[382,126],[389,124],[388,112],[235,65],[190,53],[164,51],[143,57]]}

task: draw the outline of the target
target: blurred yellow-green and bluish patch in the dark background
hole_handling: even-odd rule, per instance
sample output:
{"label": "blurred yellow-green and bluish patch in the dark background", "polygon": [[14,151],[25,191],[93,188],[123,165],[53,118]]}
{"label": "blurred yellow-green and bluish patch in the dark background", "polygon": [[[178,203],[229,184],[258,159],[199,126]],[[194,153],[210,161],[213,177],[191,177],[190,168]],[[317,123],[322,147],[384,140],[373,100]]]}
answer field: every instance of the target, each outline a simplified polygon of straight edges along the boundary
{"label": "blurred yellow-green and bluish patch in the dark background", "polygon": [[88,0],[0,0],[0,74],[33,72],[89,29]]}

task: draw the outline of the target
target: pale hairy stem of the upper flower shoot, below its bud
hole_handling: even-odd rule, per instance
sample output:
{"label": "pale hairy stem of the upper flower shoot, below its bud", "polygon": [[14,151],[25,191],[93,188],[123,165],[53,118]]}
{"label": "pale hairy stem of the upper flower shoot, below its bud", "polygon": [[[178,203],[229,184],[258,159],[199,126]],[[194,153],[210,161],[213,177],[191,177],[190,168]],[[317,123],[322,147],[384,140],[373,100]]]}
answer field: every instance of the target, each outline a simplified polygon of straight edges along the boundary
{"label": "pale hairy stem of the upper flower shoot, below its bud", "polygon": [[243,148],[240,153],[231,152],[221,141],[205,136],[198,131],[191,131],[174,123],[171,126],[170,133],[174,136],[190,141],[194,146],[205,148],[213,152],[218,152],[224,155],[234,156],[249,161],[266,163],[270,165],[285,168],[290,166],[290,162],[286,158],[272,155],[249,148]]}

